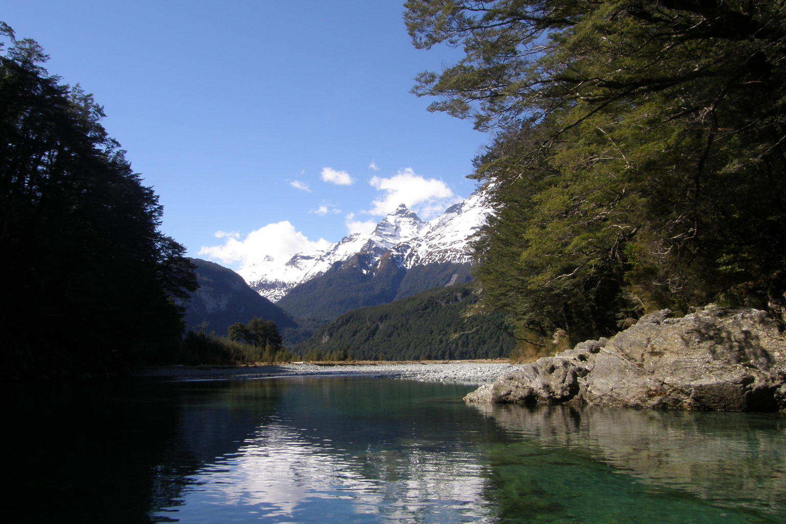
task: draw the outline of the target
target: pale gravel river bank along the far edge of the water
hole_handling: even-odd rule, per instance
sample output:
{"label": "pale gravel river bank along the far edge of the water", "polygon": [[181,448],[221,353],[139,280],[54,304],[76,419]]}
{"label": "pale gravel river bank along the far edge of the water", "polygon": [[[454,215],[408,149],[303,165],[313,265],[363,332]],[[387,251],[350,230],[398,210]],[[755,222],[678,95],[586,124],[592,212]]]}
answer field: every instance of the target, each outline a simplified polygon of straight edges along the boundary
{"label": "pale gravel river bank along the far edge of the water", "polygon": [[362,362],[314,364],[288,362],[253,366],[164,366],[149,368],[139,376],[171,380],[246,380],[287,376],[380,376],[424,382],[492,383],[516,369],[506,361]]}

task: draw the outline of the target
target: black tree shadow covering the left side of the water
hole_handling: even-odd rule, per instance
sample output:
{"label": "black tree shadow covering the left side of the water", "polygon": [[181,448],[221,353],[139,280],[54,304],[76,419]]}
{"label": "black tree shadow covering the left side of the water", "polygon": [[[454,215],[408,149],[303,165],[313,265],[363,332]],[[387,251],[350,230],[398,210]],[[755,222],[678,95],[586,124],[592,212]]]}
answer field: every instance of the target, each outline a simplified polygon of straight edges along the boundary
{"label": "black tree shadow covering the left side of the water", "polygon": [[9,522],[152,522],[275,404],[265,381],[6,383],[2,395]]}

